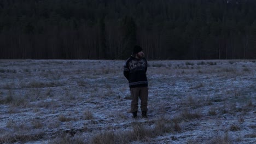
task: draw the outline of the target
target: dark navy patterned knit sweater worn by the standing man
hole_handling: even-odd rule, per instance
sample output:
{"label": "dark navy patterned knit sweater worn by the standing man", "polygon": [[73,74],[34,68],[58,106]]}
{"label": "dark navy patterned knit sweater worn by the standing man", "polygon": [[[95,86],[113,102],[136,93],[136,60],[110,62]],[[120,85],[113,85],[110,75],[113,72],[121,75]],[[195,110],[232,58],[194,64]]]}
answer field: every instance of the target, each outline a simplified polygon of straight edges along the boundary
{"label": "dark navy patterned knit sweater worn by the standing man", "polygon": [[147,87],[147,68],[148,62],[146,58],[137,59],[131,56],[124,65],[124,76],[129,81],[129,87]]}

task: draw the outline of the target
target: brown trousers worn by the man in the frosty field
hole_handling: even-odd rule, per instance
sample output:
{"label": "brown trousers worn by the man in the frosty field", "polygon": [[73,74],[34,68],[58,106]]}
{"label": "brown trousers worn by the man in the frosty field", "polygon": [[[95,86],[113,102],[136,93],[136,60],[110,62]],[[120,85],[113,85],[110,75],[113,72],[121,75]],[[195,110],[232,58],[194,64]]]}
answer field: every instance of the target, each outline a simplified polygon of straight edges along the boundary
{"label": "brown trousers worn by the man in the frosty field", "polygon": [[148,87],[131,88],[131,112],[138,111],[138,98],[141,99],[141,111],[148,111]]}

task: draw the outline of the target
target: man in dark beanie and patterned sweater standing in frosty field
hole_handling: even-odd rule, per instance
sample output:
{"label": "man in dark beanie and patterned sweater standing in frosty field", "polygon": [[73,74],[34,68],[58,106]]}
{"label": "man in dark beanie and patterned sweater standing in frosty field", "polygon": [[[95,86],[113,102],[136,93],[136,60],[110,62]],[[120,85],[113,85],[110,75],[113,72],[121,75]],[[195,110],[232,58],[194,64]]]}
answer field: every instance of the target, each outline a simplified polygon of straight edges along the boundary
{"label": "man in dark beanie and patterned sweater standing in frosty field", "polygon": [[141,99],[142,117],[147,118],[148,111],[148,62],[144,58],[142,47],[133,47],[133,55],[127,59],[124,65],[124,76],[129,81],[131,91],[131,113],[133,118],[137,118],[138,98]]}

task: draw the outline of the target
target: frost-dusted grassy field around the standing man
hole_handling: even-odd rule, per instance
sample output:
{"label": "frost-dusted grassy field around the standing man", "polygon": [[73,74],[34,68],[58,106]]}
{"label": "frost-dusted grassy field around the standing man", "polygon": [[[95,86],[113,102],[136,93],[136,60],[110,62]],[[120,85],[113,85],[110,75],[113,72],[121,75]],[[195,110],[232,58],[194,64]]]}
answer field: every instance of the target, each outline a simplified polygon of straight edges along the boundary
{"label": "frost-dusted grassy field around the standing man", "polygon": [[255,60],[149,61],[148,119],[124,63],[0,60],[0,143],[256,142]]}

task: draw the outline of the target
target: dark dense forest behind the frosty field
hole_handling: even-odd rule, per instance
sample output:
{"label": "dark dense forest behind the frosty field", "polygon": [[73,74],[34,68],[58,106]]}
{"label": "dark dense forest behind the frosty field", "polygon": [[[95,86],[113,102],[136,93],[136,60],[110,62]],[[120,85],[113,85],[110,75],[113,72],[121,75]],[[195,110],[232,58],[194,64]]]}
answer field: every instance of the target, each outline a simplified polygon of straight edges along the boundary
{"label": "dark dense forest behind the frosty field", "polygon": [[0,58],[256,58],[254,0],[0,0]]}

